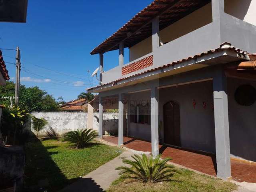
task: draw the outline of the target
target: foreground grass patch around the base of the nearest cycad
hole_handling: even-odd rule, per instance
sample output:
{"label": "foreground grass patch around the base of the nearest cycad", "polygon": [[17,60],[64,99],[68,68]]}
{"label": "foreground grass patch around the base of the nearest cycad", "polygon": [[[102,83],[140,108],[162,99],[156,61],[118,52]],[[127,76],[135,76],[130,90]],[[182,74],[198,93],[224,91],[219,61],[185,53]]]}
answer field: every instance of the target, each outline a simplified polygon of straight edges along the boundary
{"label": "foreground grass patch around the base of the nearest cycad", "polygon": [[107,192],[231,192],[237,189],[231,182],[187,169],[179,170],[181,174],[174,174],[170,180],[156,183],[138,182],[124,175],[115,180]]}

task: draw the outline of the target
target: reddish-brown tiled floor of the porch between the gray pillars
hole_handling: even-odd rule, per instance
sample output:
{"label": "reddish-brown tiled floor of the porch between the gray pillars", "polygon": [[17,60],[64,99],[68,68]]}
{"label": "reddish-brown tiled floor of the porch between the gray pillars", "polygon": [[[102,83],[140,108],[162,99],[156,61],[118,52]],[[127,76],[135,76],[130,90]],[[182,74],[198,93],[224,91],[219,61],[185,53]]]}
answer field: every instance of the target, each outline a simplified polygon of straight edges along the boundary
{"label": "reddish-brown tiled floor of the porch between the gray pillars", "polygon": [[[118,136],[104,136],[104,140],[118,144]],[[124,137],[124,146],[137,151],[151,152],[151,143],[135,138]],[[199,154],[187,150],[159,145],[162,157],[171,157],[171,162],[216,176],[215,155]],[[232,178],[238,182],[256,183],[256,163],[231,159]]]}

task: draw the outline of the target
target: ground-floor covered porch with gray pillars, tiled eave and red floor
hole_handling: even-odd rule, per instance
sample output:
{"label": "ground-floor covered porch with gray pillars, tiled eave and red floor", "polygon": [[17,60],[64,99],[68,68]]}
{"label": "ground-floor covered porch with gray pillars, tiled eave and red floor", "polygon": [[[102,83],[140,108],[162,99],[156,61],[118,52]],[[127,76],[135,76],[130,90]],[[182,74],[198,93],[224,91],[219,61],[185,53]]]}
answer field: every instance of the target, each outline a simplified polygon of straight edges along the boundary
{"label": "ground-floor covered porch with gray pillars, tiled eave and red floor", "polygon": [[[237,53],[226,43],[193,59],[91,88],[99,92],[93,104],[99,109],[99,137],[105,134],[103,110],[118,109],[118,137],[112,142],[134,148],[146,140],[137,150],[170,154],[177,164],[223,179],[248,175],[252,170],[245,164],[244,170],[235,166],[231,173],[230,162],[230,157],[256,162],[255,99],[246,106],[234,97],[240,86],[255,90],[255,76],[238,72],[246,59]],[[230,70],[235,74],[230,76]]]}

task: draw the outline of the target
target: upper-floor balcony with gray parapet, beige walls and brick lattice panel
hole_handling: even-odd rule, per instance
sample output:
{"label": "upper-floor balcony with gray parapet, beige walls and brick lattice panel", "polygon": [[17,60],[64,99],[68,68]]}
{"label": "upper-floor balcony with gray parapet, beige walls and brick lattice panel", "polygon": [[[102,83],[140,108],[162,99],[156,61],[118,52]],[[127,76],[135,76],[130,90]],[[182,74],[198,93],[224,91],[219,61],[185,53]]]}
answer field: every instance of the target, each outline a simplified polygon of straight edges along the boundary
{"label": "upper-floor balcony with gray parapet, beige walls and brick lattice panel", "polygon": [[[245,0],[240,12],[238,2],[240,0],[212,0],[160,30],[158,36],[162,44],[158,47],[152,44],[153,35],[130,47],[130,62],[103,72],[102,82],[108,83],[207,52],[223,42],[230,42],[250,53],[256,52],[256,17],[252,17],[256,15],[256,0]],[[145,64],[144,60],[150,63]]]}

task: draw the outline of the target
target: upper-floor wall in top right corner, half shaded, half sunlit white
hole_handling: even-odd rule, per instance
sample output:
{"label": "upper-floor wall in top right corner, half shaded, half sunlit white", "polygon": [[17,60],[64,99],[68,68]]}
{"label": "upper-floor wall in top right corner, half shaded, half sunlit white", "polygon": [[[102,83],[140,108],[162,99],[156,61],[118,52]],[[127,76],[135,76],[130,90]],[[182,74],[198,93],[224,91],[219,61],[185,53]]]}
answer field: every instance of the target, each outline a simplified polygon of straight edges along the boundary
{"label": "upper-floor wall in top right corner, half shaded, half sunlit white", "polygon": [[225,12],[256,26],[256,0],[225,0]]}

